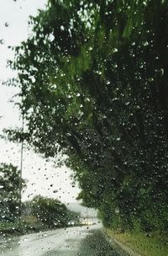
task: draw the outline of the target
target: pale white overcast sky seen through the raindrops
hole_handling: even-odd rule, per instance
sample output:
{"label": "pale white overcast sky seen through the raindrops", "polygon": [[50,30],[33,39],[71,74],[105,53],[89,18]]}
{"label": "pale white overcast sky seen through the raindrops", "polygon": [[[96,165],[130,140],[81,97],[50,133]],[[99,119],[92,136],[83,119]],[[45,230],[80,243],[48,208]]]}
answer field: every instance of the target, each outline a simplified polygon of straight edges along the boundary
{"label": "pale white overcast sky seen through the raindrops", "polygon": [[[9,102],[17,88],[8,88],[2,85],[13,72],[6,67],[7,59],[13,58],[13,52],[8,45],[19,45],[26,40],[29,34],[28,18],[35,15],[38,8],[45,6],[45,0],[0,0],[0,131],[3,128],[20,125],[18,109]],[[8,26],[6,25],[8,24]],[[20,166],[20,145],[0,140],[0,163],[13,163]],[[30,200],[34,195],[45,195],[57,198],[68,204],[76,202],[80,189],[71,185],[72,171],[66,167],[54,168],[52,161],[46,162],[44,158],[33,151],[24,149],[23,178],[27,179],[27,189],[23,200]],[[58,193],[53,193],[57,189]],[[78,203],[79,204],[79,203]]]}

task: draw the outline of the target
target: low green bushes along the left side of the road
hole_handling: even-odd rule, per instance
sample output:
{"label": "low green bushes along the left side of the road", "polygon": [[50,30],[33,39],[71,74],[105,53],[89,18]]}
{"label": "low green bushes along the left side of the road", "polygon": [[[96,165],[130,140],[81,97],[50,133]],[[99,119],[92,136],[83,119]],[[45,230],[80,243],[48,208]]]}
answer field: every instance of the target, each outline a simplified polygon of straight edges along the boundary
{"label": "low green bushes along the left side of the road", "polygon": [[31,201],[23,202],[21,211],[22,216],[19,219],[7,218],[7,216],[1,219],[0,234],[21,235],[42,232],[50,228],[69,227],[68,222],[76,220],[78,223],[80,216],[76,211],[68,210],[59,200],[40,195],[35,196]]}

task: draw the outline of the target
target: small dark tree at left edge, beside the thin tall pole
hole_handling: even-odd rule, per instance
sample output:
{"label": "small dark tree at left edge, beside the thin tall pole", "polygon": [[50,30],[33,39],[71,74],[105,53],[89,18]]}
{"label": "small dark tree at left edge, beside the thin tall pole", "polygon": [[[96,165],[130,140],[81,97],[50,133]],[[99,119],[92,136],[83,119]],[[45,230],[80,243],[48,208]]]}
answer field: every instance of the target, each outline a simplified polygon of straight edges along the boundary
{"label": "small dark tree at left edge, beside the thin tall pole", "polygon": [[25,180],[13,164],[0,163],[0,220],[15,221],[20,207],[20,189]]}

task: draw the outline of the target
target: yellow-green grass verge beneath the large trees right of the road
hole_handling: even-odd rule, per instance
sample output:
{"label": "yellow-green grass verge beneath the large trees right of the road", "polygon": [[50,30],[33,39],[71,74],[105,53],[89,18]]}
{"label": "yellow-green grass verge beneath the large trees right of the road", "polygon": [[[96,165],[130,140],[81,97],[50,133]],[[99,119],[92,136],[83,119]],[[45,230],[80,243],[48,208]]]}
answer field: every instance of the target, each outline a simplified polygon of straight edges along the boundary
{"label": "yellow-green grass verge beneath the large trees right of the road", "polygon": [[168,255],[168,237],[157,233],[148,235],[143,232],[118,233],[111,229],[106,229],[108,237],[115,238],[130,249],[142,256],[166,256]]}

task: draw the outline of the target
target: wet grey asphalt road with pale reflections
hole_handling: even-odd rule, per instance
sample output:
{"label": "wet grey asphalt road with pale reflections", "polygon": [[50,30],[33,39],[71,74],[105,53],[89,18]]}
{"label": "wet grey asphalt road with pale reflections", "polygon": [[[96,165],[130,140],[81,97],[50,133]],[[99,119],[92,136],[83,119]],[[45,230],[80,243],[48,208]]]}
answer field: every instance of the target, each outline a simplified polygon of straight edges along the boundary
{"label": "wet grey asphalt road with pale reflections", "polygon": [[118,256],[97,226],[68,227],[0,242],[3,256]]}

